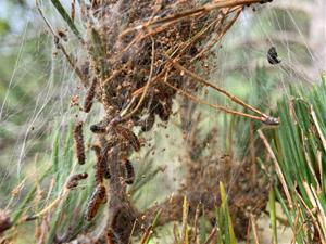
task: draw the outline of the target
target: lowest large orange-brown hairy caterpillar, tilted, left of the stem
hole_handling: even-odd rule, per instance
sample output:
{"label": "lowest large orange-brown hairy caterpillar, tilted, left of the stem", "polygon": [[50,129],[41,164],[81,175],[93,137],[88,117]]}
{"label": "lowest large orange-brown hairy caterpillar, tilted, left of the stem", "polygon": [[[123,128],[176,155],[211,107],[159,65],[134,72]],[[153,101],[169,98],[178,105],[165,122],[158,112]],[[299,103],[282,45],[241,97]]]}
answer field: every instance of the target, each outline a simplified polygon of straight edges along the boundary
{"label": "lowest large orange-brown hairy caterpillar, tilted, left of the stem", "polygon": [[86,216],[85,216],[87,221],[90,221],[97,215],[101,204],[104,203],[105,198],[106,198],[105,187],[102,184],[98,184],[88,202]]}

